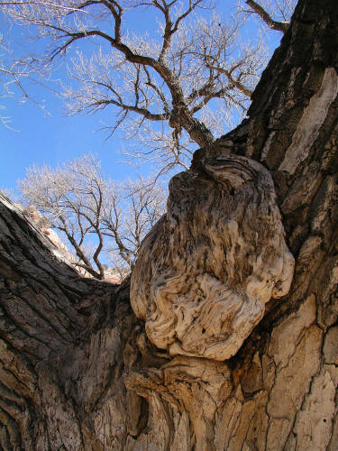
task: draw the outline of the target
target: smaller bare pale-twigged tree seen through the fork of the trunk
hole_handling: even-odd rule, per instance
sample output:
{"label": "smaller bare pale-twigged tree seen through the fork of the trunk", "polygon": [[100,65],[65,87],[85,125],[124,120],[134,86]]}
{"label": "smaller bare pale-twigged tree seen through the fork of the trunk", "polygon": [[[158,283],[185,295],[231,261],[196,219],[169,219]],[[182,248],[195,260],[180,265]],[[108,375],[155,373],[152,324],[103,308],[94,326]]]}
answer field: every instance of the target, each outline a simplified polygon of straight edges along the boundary
{"label": "smaller bare pale-twigged tree seen through the fork of the trunk", "polygon": [[159,183],[142,177],[115,183],[92,154],[56,169],[33,166],[19,189],[24,205],[37,207],[66,238],[78,269],[99,280],[105,278],[103,258],[124,275],[132,269],[143,237],[165,208]]}

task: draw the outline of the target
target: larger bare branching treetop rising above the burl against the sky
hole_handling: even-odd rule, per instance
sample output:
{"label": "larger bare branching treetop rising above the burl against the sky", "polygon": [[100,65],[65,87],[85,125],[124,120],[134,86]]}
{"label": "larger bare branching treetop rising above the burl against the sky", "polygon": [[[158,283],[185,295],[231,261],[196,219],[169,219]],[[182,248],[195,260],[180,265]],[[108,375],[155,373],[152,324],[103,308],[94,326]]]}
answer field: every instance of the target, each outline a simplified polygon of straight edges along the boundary
{"label": "larger bare branching treetop rising above the burl against the sky", "polygon": [[[290,3],[278,2],[286,16]],[[255,2],[247,4],[258,11]],[[138,35],[128,26],[128,13],[136,10],[142,17],[145,7],[160,28]],[[136,138],[140,145],[128,146],[125,153],[157,161],[160,173],[176,165],[187,169],[196,144],[214,143],[226,122],[246,114],[267,62],[258,35],[241,43],[247,15],[220,17],[210,0],[13,1],[0,2],[0,8],[50,42],[43,56],[34,56],[37,67],[45,71],[69,54],[74,80],[64,89],[69,112],[110,107],[116,121],[107,124],[109,133],[120,127],[127,139]],[[262,6],[259,14],[269,23]],[[270,28],[286,29],[286,23],[284,28],[271,23]]]}

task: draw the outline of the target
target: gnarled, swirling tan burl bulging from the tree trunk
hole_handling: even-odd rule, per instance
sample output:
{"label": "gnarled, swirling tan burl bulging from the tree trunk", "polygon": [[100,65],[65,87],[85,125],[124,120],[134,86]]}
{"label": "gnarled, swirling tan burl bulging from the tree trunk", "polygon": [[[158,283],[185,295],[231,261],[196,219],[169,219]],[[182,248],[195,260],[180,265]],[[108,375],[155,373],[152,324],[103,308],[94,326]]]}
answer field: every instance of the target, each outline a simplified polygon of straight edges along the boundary
{"label": "gnarled, swirling tan burl bulging from the tree trunk", "polygon": [[132,272],[132,308],[160,349],[224,360],[293,271],[268,170],[219,152],[171,179],[167,215]]}

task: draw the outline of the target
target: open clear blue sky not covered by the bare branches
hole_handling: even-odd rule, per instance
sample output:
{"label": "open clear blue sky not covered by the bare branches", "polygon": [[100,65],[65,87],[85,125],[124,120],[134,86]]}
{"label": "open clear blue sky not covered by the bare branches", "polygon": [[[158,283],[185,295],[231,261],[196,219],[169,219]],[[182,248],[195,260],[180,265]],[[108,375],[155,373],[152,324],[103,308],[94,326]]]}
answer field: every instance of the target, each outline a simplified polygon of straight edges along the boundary
{"label": "open clear blue sky not covered by the bare branches", "polygon": [[[233,0],[219,1],[220,12],[227,14],[235,3]],[[128,24],[130,30],[143,32],[153,28],[154,18],[149,12],[132,13]],[[0,20],[0,27],[3,32],[8,31],[4,18]],[[248,32],[256,30],[252,27]],[[20,45],[23,30],[13,28],[10,36],[16,41],[15,45]],[[276,33],[270,46],[276,46],[279,39],[280,35]],[[57,166],[87,152],[99,155],[103,168],[113,179],[133,178],[139,172],[144,174],[150,170],[149,167],[137,169],[119,162],[125,159],[120,152],[123,142],[119,133],[105,141],[105,133],[97,132],[102,122],[114,122],[108,109],[101,115],[67,117],[62,113],[61,101],[49,90],[32,86],[29,92],[46,106],[50,115],[29,100],[21,103],[17,97],[0,99],[0,104],[5,106],[2,113],[11,116],[13,127],[5,128],[0,124],[0,188],[15,189],[16,180],[22,179],[25,169],[32,164]]]}

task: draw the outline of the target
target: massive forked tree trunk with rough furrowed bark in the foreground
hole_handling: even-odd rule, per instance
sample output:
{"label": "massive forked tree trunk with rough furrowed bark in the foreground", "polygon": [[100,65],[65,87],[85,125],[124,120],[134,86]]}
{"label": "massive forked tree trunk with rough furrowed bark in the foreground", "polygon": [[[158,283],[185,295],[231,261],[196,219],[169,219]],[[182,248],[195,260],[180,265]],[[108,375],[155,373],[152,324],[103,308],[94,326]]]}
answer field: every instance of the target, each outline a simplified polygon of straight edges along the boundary
{"label": "massive forked tree trunk with rough furrowed bark in the foreground", "polygon": [[[196,152],[192,170],[171,184],[169,215],[143,244],[142,258],[151,273],[139,266],[132,276],[132,305],[139,319],[131,308],[129,282],[116,287],[78,277],[59,261],[48,239],[5,198],[2,200],[2,449],[337,449],[337,70],[336,0],[300,0],[288,32],[252,96],[249,118],[212,149]],[[210,209],[212,200],[201,195],[207,192],[215,196],[215,208],[224,205],[222,197],[244,202],[254,226],[257,217],[262,228],[273,226],[271,217],[272,223],[279,221],[274,204],[274,213],[269,216],[269,202],[265,210],[261,204],[257,210],[260,216],[255,218],[252,205],[260,205],[260,187],[252,189],[251,199],[245,197],[249,188],[244,197],[238,194],[242,186],[249,186],[248,180],[252,186],[259,184],[252,176],[252,167],[258,167],[252,160],[260,161],[274,181],[280,224],[295,258],[293,275],[289,270],[285,276],[283,265],[287,263],[282,253],[280,264],[271,260],[273,271],[265,264],[269,249],[275,255],[285,246],[282,231],[278,232],[278,244],[256,253],[255,245],[262,243],[264,234],[256,240],[249,231],[245,241],[246,232],[241,235],[247,229],[241,228],[245,214],[241,223],[241,215],[233,218],[227,213],[232,226],[223,225],[220,230],[234,234],[228,242],[217,224],[210,226],[206,217],[203,221],[196,217],[197,201],[191,198],[199,196],[201,209],[207,205],[208,215],[224,221],[219,210]],[[248,162],[246,169],[243,161]],[[217,175],[224,168],[228,170],[225,181],[222,174]],[[185,192],[180,198],[179,183]],[[234,232],[234,223],[239,235]],[[176,240],[168,244],[163,227],[170,233],[176,233],[178,227]],[[269,242],[274,242],[273,234],[267,232]],[[233,246],[235,236],[242,240],[238,240],[238,247]],[[224,244],[225,257],[220,251],[225,243],[222,240],[228,246]],[[200,253],[207,244],[215,246],[217,252],[206,249]],[[169,288],[169,260],[161,245],[170,254],[171,264],[178,262],[180,271],[187,271],[188,276],[177,283],[170,279]],[[242,248],[248,260],[229,256],[229,252],[240,255]],[[287,247],[283,249],[291,264]],[[188,253],[198,256],[196,273],[190,271]],[[255,253],[256,259],[251,256]],[[207,258],[203,260],[201,255]],[[259,257],[264,263],[261,274]],[[222,258],[223,265],[217,266]],[[256,288],[249,290],[252,279],[247,279],[252,273]],[[234,279],[230,280],[229,274],[234,274]],[[191,289],[194,278],[200,286]],[[245,282],[246,291],[233,280]],[[259,282],[268,293],[263,297],[257,288]],[[172,297],[175,290],[176,298]],[[247,313],[260,300],[264,313],[260,311],[253,319],[249,314],[251,326],[244,334],[241,327],[246,317],[240,326],[232,323],[241,308],[233,316],[221,318],[225,304],[224,299],[219,302],[219,293],[224,290],[247,296],[249,300],[242,300],[249,302]],[[249,291],[256,294],[250,297]],[[205,315],[199,327],[195,313],[195,321],[184,318],[191,311],[198,313],[198,308],[192,307],[197,296],[202,302],[208,298],[214,315]],[[156,324],[156,320],[163,314],[168,319],[166,309],[179,297],[185,298],[187,309],[179,310],[181,317],[178,309],[170,310],[176,319],[167,321],[171,341],[166,347],[163,324]],[[163,299],[171,299],[169,307]],[[219,325],[220,340],[211,330],[215,325]],[[188,336],[191,327],[196,330],[195,346]],[[227,339],[233,334],[240,338],[234,340],[236,345],[230,345],[225,360],[218,348],[209,353],[210,340],[212,345],[220,341],[229,344]]]}

